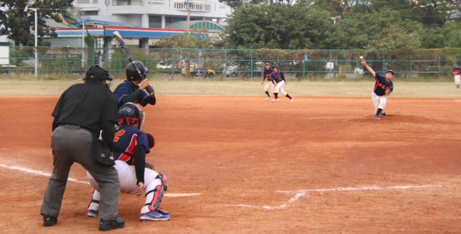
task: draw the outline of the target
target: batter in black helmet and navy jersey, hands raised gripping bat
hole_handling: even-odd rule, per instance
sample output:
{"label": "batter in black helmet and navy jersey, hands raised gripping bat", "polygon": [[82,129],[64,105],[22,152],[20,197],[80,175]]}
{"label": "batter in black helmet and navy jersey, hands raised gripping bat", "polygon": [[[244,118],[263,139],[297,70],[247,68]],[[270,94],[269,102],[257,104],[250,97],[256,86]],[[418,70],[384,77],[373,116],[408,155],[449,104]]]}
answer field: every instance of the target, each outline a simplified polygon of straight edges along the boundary
{"label": "batter in black helmet and navy jersey, hands raised gripping bat", "polygon": [[[141,71],[142,77],[139,77],[139,73],[133,64],[130,63],[126,66],[126,81],[119,84],[113,92],[117,100],[117,108],[128,102],[139,103],[142,106],[148,104],[155,105],[156,103],[155,94],[149,96],[149,94],[154,93],[154,88],[149,86],[147,79],[148,69],[144,67],[142,62],[134,61],[134,63],[136,63],[137,68]],[[144,90],[149,94],[144,92]]]}

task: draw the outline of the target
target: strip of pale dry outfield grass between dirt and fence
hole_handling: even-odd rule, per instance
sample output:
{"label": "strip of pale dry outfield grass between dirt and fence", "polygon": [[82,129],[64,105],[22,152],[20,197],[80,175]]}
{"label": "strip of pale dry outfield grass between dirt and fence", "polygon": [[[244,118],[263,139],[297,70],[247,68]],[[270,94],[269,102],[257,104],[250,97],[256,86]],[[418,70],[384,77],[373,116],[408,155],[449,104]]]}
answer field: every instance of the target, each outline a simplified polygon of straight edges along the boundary
{"label": "strip of pale dry outfield grass between dirt and fence", "polygon": [[[81,80],[0,79],[0,96],[59,96],[66,88]],[[113,91],[123,80],[115,80]],[[259,81],[219,80],[155,80],[151,81],[157,96],[261,96]],[[370,97],[374,80],[370,81],[288,81],[285,91],[293,97]],[[461,89],[454,82],[394,81],[392,97],[461,98]]]}

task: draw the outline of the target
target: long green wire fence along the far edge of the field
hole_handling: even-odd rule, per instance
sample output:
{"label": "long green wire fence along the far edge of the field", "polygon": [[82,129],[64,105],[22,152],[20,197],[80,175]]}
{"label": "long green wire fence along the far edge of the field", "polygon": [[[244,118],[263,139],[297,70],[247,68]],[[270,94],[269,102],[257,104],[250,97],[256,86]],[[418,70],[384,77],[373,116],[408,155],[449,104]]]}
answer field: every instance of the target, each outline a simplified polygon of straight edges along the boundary
{"label": "long green wire fence along the far edge of the field", "polygon": [[[0,74],[34,74],[34,47],[8,47],[0,50]],[[82,52],[83,63],[82,63]],[[104,53],[101,53],[104,52]],[[359,57],[380,74],[394,70],[398,78],[451,78],[458,55],[431,51],[390,53],[382,51],[353,50],[237,50],[237,49],[139,49],[130,53],[148,67],[149,76],[182,78],[183,68],[190,64],[196,77],[221,77],[225,79],[260,78],[265,63],[278,64],[287,78],[300,80],[334,79],[337,77],[360,78],[369,76]],[[5,62],[6,61],[6,62]],[[164,63],[164,64],[160,64]],[[118,77],[124,76],[128,59],[118,47],[112,48],[41,48],[38,50],[38,76],[62,76],[84,74],[94,64],[103,64]],[[83,64],[83,66],[82,66]],[[213,70],[213,76],[209,74]],[[192,70],[191,70],[192,71]]]}

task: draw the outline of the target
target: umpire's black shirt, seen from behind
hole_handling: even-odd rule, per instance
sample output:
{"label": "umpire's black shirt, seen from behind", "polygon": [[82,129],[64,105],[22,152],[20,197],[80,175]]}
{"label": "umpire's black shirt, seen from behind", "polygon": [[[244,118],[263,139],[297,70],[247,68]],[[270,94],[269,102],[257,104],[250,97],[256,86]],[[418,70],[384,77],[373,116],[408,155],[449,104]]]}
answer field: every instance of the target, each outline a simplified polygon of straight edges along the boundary
{"label": "umpire's black shirt, seen from behind", "polygon": [[60,124],[78,125],[97,134],[102,129],[102,139],[112,150],[118,120],[117,101],[109,88],[87,80],[69,87],[54,107],[53,130]]}

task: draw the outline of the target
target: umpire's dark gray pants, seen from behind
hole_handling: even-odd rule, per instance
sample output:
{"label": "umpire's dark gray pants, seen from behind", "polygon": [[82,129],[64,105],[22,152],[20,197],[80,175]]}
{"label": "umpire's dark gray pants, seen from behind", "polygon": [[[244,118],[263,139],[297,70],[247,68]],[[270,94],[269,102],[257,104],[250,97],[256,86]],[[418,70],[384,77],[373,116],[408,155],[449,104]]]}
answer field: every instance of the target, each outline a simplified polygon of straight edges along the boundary
{"label": "umpire's dark gray pants, seen from behind", "polygon": [[85,168],[99,184],[101,200],[99,216],[103,220],[116,220],[120,182],[115,168],[93,163],[91,156],[92,136],[76,125],[59,126],[51,136],[53,149],[53,174],[48,181],[40,213],[58,217],[71,165],[77,162]]}

